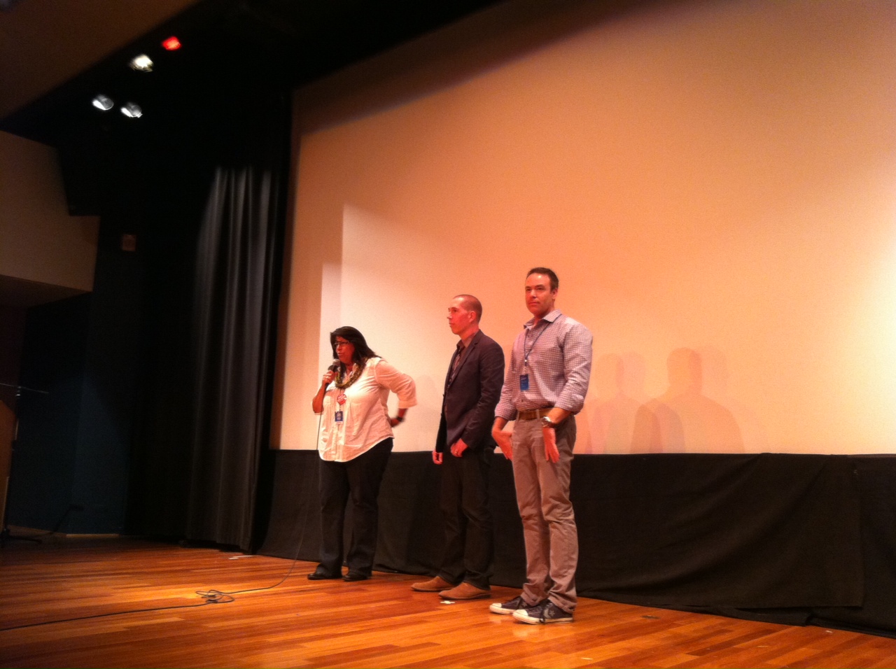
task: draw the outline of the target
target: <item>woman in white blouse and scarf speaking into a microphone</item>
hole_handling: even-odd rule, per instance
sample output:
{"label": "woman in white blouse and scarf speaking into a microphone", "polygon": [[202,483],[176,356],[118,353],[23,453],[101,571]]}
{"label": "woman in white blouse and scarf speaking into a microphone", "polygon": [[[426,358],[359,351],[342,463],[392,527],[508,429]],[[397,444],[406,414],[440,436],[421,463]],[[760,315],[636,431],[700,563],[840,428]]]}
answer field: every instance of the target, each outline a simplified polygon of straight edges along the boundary
{"label": "woman in white blouse and scarf speaking into a microphone", "polygon": [[[367,346],[355,328],[330,333],[333,365],[323,374],[311,406],[321,414],[317,450],[321,456],[321,562],[312,580],[370,578],[376,550],[380,482],[392,452],[392,427],[401,424],[417,404],[416,386]],[[386,400],[392,390],[399,399],[396,416]],[[346,502],[352,511],[351,545],[345,555],[349,572],[342,576],[342,534]]]}

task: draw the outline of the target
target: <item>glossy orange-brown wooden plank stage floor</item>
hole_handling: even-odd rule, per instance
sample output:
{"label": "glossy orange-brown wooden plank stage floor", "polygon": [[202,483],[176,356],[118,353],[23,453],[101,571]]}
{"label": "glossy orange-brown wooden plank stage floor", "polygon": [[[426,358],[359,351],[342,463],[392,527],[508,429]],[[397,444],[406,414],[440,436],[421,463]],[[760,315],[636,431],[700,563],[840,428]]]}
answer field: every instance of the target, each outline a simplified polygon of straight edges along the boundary
{"label": "glossy orange-brown wooden plank stage floor", "polygon": [[[572,624],[526,625],[489,600],[445,604],[419,577],[268,588],[279,558],[138,539],[44,537],[0,550],[0,667],[896,669],[896,639],[582,599]],[[493,599],[517,591],[494,588]]]}

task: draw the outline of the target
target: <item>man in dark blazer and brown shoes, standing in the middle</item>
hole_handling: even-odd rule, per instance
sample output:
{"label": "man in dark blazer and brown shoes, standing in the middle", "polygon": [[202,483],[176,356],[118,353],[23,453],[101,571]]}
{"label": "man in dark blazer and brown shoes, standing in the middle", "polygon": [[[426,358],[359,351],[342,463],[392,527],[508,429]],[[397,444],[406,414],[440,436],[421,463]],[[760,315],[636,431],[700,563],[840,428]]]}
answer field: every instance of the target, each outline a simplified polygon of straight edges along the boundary
{"label": "man in dark blazer and brown shoes, standing in the middle", "polygon": [[495,544],[488,469],[495,452],[491,425],[504,383],[504,350],[479,330],[481,317],[482,304],[474,296],[456,296],[448,306],[448,324],[460,341],[445,375],[433,450],[433,462],[442,467],[445,552],[435,578],[411,586],[444,599],[491,596]]}

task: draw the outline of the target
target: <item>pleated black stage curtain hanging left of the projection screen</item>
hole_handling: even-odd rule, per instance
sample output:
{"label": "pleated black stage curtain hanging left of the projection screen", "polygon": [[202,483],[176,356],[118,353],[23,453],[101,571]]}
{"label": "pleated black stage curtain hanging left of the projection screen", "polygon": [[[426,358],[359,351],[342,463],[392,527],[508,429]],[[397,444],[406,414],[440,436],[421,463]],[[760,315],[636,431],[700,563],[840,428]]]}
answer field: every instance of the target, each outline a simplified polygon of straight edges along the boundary
{"label": "pleated black stage curtain hanging left of the projection screen", "polygon": [[216,170],[197,253],[196,420],[186,536],[243,549],[252,539],[270,408],[283,216],[277,162],[285,144],[260,142],[254,164]]}

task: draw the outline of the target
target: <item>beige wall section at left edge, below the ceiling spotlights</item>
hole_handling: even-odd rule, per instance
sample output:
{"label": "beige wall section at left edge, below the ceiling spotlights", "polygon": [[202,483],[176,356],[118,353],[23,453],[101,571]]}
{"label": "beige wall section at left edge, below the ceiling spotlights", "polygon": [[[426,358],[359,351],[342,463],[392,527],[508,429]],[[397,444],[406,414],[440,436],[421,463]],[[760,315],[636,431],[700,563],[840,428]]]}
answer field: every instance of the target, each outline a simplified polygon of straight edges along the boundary
{"label": "beige wall section at left edge, below the ceiling spotlights", "polygon": [[0,275],[90,291],[98,231],[68,215],[56,151],[0,133]]}

